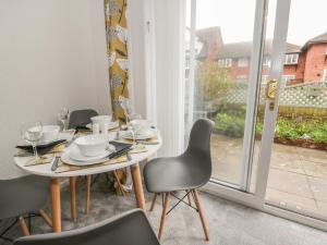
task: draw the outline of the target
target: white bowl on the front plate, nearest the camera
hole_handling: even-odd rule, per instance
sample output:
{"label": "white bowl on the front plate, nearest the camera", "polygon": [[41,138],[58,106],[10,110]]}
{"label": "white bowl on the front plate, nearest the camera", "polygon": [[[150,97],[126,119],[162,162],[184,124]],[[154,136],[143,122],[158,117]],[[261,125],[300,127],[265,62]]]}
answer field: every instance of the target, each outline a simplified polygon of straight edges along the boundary
{"label": "white bowl on the front plate, nearest the camera", "polygon": [[108,143],[108,136],[100,134],[82,136],[75,140],[81,154],[87,157],[95,157],[104,154]]}

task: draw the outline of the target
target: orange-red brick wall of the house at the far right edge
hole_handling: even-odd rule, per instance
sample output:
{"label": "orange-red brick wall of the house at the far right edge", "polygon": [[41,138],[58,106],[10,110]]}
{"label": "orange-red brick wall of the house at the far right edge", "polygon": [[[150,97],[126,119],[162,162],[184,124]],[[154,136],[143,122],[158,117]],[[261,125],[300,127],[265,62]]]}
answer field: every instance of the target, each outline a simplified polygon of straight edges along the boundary
{"label": "orange-red brick wall of the house at the far right edge", "polygon": [[327,69],[327,44],[312,45],[306,52],[304,81],[322,81]]}

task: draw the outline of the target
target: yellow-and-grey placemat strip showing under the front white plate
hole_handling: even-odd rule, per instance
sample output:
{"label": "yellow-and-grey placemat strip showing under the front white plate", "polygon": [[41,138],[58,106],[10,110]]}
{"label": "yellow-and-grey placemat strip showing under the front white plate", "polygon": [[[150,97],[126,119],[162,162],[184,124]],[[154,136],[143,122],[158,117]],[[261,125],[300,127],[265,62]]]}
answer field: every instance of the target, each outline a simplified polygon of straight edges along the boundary
{"label": "yellow-and-grey placemat strip showing under the front white plate", "polygon": [[92,164],[92,166],[70,166],[60,160],[55,173],[63,173],[63,172],[82,170],[82,169],[90,169],[90,168],[96,168],[99,166],[116,164],[116,163],[121,163],[121,162],[126,162],[126,161],[128,161],[126,155],[123,155],[123,156],[120,156],[120,157],[117,157],[117,158],[113,158],[110,160],[104,160],[102,162],[99,162],[97,164]]}

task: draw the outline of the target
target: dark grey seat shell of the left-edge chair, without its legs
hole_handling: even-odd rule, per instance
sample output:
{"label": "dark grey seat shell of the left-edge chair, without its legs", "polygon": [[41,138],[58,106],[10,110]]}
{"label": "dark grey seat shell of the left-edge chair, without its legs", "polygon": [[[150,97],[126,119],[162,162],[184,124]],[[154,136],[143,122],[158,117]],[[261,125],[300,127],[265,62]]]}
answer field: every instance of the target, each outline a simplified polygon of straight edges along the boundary
{"label": "dark grey seat shell of the left-edge chair, without its legs", "polygon": [[48,203],[49,177],[26,175],[0,180],[0,220],[38,211]]}

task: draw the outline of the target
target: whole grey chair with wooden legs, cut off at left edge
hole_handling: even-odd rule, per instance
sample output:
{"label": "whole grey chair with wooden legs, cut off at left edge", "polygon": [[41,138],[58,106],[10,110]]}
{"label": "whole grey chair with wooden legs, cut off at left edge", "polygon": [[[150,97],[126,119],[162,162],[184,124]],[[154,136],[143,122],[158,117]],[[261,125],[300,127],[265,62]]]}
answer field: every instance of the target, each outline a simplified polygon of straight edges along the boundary
{"label": "whole grey chair with wooden legs, cut off at left edge", "polygon": [[5,234],[16,223],[20,224],[23,235],[29,235],[25,218],[40,215],[51,226],[51,219],[43,209],[48,201],[49,179],[27,175],[11,180],[0,180],[0,220],[14,218],[13,222],[0,232],[2,240],[12,241]]}

